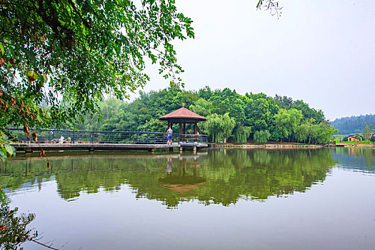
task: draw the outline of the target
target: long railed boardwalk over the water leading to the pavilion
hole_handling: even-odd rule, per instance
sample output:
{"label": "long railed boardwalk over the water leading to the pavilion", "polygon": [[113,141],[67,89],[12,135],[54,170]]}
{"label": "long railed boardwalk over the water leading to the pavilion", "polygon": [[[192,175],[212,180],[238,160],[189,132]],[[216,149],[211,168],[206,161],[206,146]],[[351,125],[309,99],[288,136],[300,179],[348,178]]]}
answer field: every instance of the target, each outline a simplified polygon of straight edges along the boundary
{"label": "long railed boardwalk over the water leading to the pavilion", "polygon": [[174,134],[173,143],[166,144],[166,134],[154,132],[129,131],[72,131],[56,129],[37,129],[38,143],[29,141],[22,129],[9,129],[16,136],[11,144],[17,150],[26,152],[71,151],[71,150],[133,150],[155,151],[155,149],[174,148],[196,150],[207,145],[206,135]]}

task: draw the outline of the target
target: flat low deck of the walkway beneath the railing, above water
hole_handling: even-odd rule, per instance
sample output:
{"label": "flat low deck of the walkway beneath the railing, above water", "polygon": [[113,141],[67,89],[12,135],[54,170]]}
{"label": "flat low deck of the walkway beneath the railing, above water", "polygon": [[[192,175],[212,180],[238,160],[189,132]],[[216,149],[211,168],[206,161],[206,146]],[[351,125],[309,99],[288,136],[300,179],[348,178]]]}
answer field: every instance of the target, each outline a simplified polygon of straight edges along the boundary
{"label": "flat low deck of the walkway beneath the railing, above water", "polygon": [[208,146],[200,143],[181,143],[181,144],[11,144],[17,150],[26,152],[40,151],[71,151],[71,150],[131,150],[131,151],[154,151],[155,149],[193,149],[194,147],[202,148]]}

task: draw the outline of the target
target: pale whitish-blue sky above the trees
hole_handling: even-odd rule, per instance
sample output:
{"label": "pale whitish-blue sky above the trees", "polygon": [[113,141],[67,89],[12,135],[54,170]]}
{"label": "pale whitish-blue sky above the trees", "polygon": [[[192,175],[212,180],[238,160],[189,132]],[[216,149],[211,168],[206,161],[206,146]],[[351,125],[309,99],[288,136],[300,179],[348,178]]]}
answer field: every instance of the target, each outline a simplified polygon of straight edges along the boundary
{"label": "pale whitish-blue sky above the trees", "polygon": [[[186,90],[289,96],[331,121],[375,114],[375,1],[280,0],[279,19],[256,4],[176,0],[194,20],[195,39],[174,42]],[[143,91],[169,86],[157,69]]]}

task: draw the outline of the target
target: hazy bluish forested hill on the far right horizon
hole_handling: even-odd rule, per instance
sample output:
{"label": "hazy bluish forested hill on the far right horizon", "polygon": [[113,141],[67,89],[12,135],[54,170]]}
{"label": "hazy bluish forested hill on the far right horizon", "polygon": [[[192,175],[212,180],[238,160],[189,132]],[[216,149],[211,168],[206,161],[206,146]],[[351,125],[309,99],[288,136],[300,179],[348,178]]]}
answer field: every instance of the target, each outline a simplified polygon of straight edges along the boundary
{"label": "hazy bluish forested hill on the far right horizon", "polygon": [[375,114],[342,117],[331,122],[331,125],[339,130],[339,134],[363,133],[365,124],[375,127]]}

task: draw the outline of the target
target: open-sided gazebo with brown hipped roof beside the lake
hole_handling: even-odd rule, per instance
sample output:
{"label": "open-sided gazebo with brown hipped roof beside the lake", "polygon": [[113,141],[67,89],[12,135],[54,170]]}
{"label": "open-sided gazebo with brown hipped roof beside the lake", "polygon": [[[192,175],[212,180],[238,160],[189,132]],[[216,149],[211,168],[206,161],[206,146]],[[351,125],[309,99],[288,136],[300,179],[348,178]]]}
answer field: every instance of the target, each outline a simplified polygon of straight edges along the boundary
{"label": "open-sided gazebo with brown hipped roof beside the lake", "polygon": [[180,109],[159,117],[159,120],[168,121],[168,127],[171,128],[173,124],[179,124],[179,134],[186,134],[186,124],[194,124],[194,134],[197,134],[198,127],[196,124],[199,121],[206,121],[207,119],[189,109],[186,109],[185,104],[183,103]]}

